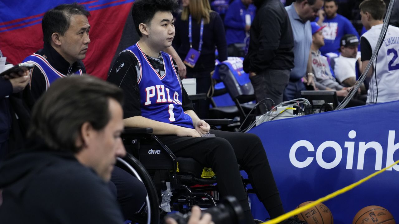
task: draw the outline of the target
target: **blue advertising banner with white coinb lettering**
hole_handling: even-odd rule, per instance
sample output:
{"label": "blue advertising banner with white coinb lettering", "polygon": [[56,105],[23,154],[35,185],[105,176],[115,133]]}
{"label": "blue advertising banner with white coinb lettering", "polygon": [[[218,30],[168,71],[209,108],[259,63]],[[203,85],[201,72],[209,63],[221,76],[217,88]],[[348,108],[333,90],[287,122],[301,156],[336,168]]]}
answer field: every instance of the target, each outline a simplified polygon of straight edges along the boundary
{"label": "blue advertising banner with white coinb lettering", "polygon": [[[399,159],[399,101],[265,122],[249,132],[265,146],[286,212],[346,187]],[[324,204],[335,224],[352,223],[363,207],[399,219],[399,165]],[[255,218],[269,217],[250,195]]]}

